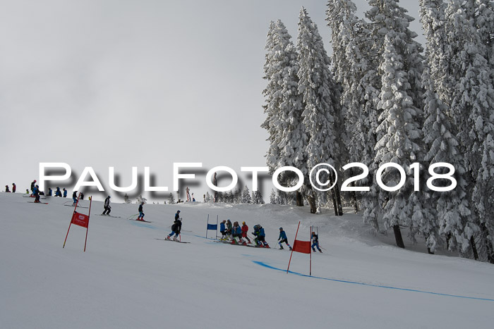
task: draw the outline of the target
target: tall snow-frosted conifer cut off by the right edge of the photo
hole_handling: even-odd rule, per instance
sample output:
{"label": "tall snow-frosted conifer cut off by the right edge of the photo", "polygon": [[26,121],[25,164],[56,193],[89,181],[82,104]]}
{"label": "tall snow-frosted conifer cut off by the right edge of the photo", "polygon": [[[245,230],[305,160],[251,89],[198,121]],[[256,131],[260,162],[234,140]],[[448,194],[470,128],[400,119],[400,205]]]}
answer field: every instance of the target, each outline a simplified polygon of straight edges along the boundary
{"label": "tall snow-frosted conifer cut off by the right edge of the photo", "polygon": [[451,65],[444,80],[451,87],[449,106],[467,169],[466,193],[474,213],[470,225],[478,235],[478,248],[472,246],[474,258],[494,263],[494,76],[489,63],[492,44],[478,26],[478,22],[487,23],[492,17],[486,4],[488,1],[448,2],[445,57]]}

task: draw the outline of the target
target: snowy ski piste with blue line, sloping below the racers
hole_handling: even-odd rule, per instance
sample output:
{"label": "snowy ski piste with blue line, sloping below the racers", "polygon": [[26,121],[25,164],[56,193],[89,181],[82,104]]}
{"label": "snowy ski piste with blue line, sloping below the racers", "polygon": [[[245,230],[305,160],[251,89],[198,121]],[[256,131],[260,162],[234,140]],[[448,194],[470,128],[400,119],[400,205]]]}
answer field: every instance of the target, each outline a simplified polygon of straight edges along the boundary
{"label": "snowy ski piste with blue line, sloping below the racers", "polygon": [[[30,200],[29,200],[30,201]],[[88,244],[66,198],[30,204],[0,194],[1,328],[490,328],[494,266],[400,249],[374,236],[360,215],[311,215],[272,204],[92,202]],[[89,201],[81,200],[80,206]],[[181,241],[165,242],[180,210]],[[87,213],[88,209],[81,209]],[[205,239],[207,215],[263,225],[271,249]],[[318,228],[323,254],[277,250]],[[219,232],[218,232],[219,234]],[[208,237],[214,237],[214,232]]]}

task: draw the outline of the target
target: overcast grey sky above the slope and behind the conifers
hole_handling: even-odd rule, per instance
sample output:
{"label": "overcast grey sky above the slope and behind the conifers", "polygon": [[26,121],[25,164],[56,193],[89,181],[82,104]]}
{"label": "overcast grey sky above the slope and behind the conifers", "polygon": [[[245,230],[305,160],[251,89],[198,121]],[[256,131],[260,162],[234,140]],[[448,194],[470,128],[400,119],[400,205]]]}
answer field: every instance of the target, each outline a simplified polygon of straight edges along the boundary
{"label": "overcast grey sky above the slope and behind the conifers", "polygon": [[[305,6],[330,52],[326,2],[1,1],[0,185],[24,191],[40,162],[92,166],[105,188],[109,166],[121,185],[150,166],[169,190],[174,162],[265,166],[270,20],[296,42]],[[416,18],[417,2],[402,4]]]}

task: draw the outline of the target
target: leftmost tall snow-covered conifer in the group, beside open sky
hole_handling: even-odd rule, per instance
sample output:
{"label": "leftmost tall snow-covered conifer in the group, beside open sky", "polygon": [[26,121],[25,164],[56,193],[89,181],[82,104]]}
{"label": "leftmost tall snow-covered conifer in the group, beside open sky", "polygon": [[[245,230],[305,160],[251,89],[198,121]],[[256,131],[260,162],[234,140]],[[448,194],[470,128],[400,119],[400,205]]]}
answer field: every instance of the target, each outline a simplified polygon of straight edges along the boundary
{"label": "leftmost tall snow-covered conifer in the group, beside open sky", "polygon": [[[261,127],[270,136],[266,163],[271,173],[282,166],[303,168],[307,136],[302,123],[299,64],[296,48],[281,20],[271,22],[265,49],[267,86],[263,91],[266,102],[263,107],[267,117]],[[282,175],[279,180],[285,185],[293,184],[291,176]]]}

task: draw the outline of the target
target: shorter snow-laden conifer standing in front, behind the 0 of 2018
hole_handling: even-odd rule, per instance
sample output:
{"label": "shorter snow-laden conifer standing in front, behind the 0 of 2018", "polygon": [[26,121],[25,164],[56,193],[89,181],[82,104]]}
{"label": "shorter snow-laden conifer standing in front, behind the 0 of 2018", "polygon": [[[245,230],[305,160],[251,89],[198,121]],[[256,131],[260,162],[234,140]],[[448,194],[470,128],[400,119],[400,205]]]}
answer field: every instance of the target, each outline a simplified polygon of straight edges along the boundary
{"label": "shorter snow-laden conifer standing in front, behind the 0 of 2018", "polygon": [[[421,145],[422,132],[417,117],[421,115],[414,105],[414,100],[408,91],[411,85],[408,75],[404,71],[404,56],[406,54],[406,42],[401,39],[399,33],[390,30],[385,37],[385,50],[382,54],[380,72],[382,72],[382,87],[379,106],[382,108],[378,131],[384,135],[376,144],[375,162],[399,163],[409,173],[412,163],[423,159],[423,146]],[[387,186],[397,185],[400,181],[399,172],[388,168],[382,173],[382,181]],[[404,248],[399,225],[411,228],[414,239],[415,223],[412,215],[420,202],[414,198],[414,182],[411,178],[405,180],[405,185],[395,192],[380,192],[380,198],[385,203],[383,219],[385,228],[393,228],[398,247]],[[418,202],[418,204],[417,204]]]}

